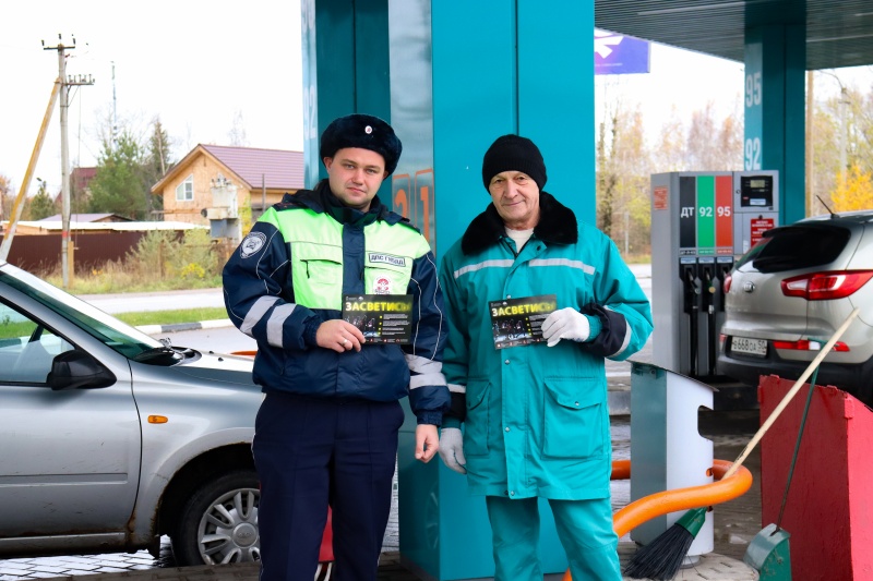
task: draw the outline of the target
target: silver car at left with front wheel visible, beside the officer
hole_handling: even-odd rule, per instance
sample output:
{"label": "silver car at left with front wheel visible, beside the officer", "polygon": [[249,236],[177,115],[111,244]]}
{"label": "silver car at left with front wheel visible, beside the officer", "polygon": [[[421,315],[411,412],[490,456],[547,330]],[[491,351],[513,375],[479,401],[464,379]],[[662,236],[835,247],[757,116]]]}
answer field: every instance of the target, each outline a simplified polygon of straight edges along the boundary
{"label": "silver car at left with front wheel visible, beside the officer", "polygon": [[0,261],[0,557],[258,560],[250,358],[172,347]]}

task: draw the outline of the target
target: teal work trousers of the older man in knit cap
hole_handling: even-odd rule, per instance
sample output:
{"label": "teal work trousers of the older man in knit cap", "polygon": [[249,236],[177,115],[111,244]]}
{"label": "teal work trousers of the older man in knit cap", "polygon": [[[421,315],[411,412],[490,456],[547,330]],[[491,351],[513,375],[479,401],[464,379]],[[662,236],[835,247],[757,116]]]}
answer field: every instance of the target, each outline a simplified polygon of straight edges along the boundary
{"label": "teal work trousers of the older man in knit cap", "polygon": [[[537,498],[488,496],[494,545],[494,581],[542,581]],[[558,538],[574,581],[621,581],[609,498],[549,500]]]}

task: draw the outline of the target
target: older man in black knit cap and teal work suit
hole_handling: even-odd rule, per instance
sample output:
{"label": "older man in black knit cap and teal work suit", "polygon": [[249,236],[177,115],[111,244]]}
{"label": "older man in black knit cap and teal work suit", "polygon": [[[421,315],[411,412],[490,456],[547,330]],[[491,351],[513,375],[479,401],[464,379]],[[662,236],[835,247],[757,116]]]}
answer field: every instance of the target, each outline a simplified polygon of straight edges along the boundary
{"label": "older man in black knit cap and teal work suit", "polygon": [[497,580],[542,580],[538,497],[573,579],[620,580],[605,359],[643,348],[648,300],[612,241],[542,191],[531,141],[499,137],[482,181],[491,204],[440,266],[452,390],[440,456],[486,496]]}

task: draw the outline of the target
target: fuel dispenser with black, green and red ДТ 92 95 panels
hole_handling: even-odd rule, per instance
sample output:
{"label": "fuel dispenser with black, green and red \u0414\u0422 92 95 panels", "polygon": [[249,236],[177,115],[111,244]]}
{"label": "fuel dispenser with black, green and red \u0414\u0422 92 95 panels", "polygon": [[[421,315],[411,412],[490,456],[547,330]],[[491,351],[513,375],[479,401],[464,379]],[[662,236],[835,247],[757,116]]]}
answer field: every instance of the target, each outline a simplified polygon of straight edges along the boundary
{"label": "fuel dispenser with black, green and red \u0414\u0422 92 95 panels", "polygon": [[716,379],[722,283],[736,258],[778,225],[777,171],[651,175],[653,362]]}

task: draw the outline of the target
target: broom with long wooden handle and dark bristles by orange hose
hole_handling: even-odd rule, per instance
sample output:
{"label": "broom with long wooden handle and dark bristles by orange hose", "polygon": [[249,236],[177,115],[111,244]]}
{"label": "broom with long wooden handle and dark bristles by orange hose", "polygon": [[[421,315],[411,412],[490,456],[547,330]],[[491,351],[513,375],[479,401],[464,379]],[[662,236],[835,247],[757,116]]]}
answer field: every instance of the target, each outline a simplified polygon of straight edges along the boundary
{"label": "broom with long wooden handle and dark bristles by orange hose", "polygon": [[[767,417],[764,424],[762,424],[754,437],[752,437],[752,440],[745,446],[742,453],[740,453],[721,480],[730,477],[740,469],[752,449],[757,446],[757,443],[761,441],[761,438],[764,437],[767,429],[769,429],[779,414],[782,413],[782,410],[785,410],[797,392],[800,391],[800,388],[803,387],[803,383],[812,375],[813,370],[825,359],[825,355],[830,352],[834,344],[842,334],[846,332],[846,329],[849,328],[849,325],[854,317],[858,316],[859,312],[860,310],[856,307],[849,314],[839,329],[837,329],[837,332],[825,343],[822,351],[815,355],[815,359],[813,359],[806,367],[806,371],[803,372],[776,409],[773,410],[773,413]],[[708,507],[701,507],[685,512],[672,526],[658,535],[655,541],[641,547],[639,550],[636,552],[625,567],[623,571],[624,574],[632,579],[655,579],[658,581],[667,581],[674,578],[687,555],[689,548],[691,548],[691,544],[694,542],[694,537],[701,532],[701,528],[706,520],[707,510]]]}

